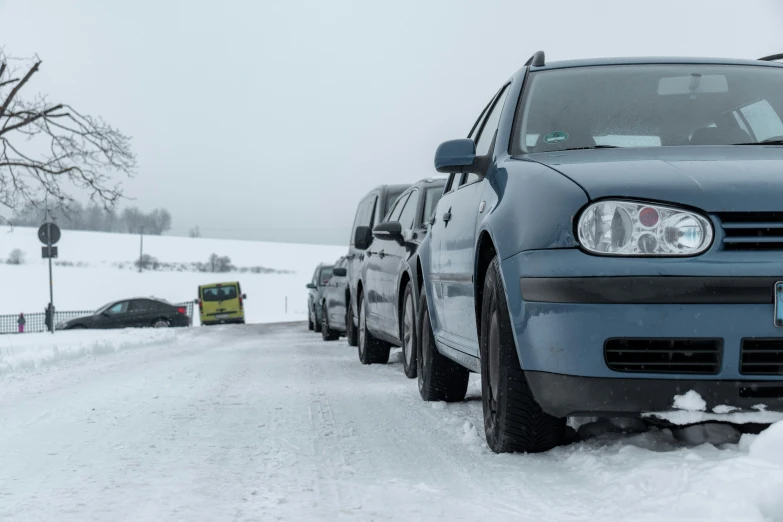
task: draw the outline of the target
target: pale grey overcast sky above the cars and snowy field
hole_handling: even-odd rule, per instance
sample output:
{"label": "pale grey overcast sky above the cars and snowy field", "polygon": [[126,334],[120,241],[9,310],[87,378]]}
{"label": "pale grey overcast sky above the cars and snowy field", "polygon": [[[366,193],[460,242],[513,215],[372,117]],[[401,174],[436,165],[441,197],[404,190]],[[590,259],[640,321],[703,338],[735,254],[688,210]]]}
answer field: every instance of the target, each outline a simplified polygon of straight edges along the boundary
{"label": "pale grey overcast sky above the cars and snowy field", "polygon": [[533,52],[757,58],[783,52],[779,4],[0,0],[0,46],[133,137],[126,195],[172,233],[342,244],[359,199],[435,174]]}

